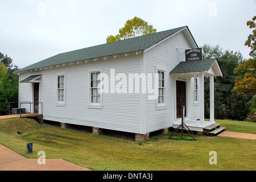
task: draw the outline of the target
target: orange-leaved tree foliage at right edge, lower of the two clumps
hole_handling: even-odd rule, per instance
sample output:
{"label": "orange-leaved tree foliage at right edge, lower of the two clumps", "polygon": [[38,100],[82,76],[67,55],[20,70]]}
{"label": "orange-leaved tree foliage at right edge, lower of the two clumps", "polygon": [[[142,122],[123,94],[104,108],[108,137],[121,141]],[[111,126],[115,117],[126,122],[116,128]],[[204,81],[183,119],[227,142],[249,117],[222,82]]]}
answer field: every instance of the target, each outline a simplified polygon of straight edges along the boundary
{"label": "orange-leaved tree foliage at right edge, lower of the two clumps", "polygon": [[256,94],[256,57],[239,64],[234,73],[238,76],[235,78],[235,91],[250,96]]}

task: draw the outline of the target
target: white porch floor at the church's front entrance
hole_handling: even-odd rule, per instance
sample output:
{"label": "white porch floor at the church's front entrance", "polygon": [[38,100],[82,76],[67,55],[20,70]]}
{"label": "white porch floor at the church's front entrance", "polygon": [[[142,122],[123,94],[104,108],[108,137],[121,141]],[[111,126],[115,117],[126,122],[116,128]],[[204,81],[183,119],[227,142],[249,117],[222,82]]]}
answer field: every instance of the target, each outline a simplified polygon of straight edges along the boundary
{"label": "white porch floor at the church's front entrance", "polygon": [[[215,123],[215,122],[214,122]],[[203,125],[201,125],[201,122],[198,120],[193,120],[189,118],[185,118],[185,124],[191,131],[199,131],[203,132],[203,129],[207,126],[210,126],[211,123],[210,121],[203,121]],[[177,127],[181,125],[181,118],[177,119],[176,121],[173,122],[173,128],[177,129]]]}

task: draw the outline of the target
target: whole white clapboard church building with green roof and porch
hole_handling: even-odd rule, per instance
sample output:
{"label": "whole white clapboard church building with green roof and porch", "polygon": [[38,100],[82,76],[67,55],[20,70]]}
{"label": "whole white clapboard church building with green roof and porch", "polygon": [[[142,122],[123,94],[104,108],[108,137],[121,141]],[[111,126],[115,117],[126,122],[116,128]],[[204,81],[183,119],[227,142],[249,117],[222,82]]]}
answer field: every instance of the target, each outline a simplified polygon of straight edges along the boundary
{"label": "whole white clapboard church building with green roof and porch", "polygon": [[[203,132],[214,122],[217,59],[202,59],[187,26],[56,56],[19,69],[19,102],[43,119],[134,133],[147,140],[181,123]],[[187,57],[187,60],[186,60]],[[204,78],[210,78],[210,121],[204,118]],[[215,125],[214,125],[215,126]]]}

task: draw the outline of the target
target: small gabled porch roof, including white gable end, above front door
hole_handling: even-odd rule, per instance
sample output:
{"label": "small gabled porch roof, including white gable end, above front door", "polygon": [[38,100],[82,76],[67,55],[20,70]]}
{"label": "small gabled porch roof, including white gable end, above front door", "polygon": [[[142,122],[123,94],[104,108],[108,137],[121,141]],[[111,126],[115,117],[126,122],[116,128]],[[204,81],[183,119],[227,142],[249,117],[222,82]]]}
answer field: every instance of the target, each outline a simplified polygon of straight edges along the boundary
{"label": "small gabled porch roof, including white gable end, above front door", "polygon": [[195,74],[204,72],[205,76],[223,76],[221,67],[219,67],[218,59],[203,59],[195,61],[182,61],[179,63],[170,74],[183,74],[194,76]]}

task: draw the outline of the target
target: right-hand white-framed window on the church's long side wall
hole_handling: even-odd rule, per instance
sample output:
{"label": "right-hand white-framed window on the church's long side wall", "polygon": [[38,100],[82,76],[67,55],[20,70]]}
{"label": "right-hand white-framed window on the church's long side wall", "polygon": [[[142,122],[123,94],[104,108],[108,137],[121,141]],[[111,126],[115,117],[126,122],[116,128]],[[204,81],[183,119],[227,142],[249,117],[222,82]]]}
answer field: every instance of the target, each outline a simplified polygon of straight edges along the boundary
{"label": "right-hand white-framed window on the church's long side wall", "polygon": [[101,72],[91,72],[91,83],[90,83],[90,96],[92,104],[100,104],[101,103],[101,94],[100,94],[100,85],[101,82],[99,75]]}

